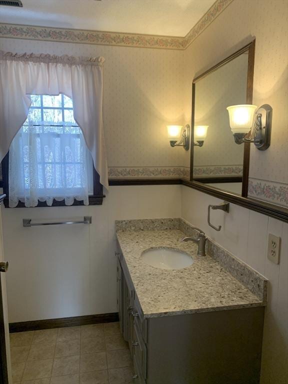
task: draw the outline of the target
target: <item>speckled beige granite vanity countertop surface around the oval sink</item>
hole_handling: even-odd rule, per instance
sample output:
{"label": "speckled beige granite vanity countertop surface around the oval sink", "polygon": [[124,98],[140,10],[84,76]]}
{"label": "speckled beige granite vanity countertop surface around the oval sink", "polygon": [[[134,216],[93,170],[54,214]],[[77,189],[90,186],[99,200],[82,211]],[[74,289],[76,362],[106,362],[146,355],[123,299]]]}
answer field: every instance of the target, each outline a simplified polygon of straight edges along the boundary
{"label": "speckled beige granite vanity countertop surface around the oval sink", "polygon": [[[208,254],[197,256],[197,244],[179,242],[186,233],[174,229],[175,226],[164,230],[123,230],[121,226],[119,229],[119,225],[117,228],[116,224],[116,236],[144,317],[265,305],[264,296],[252,293],[215,258]],[[191,255],[193,263],[172,270],[152,267],[141,259],[141,253],[151,247],[180,249]],[[262,279],[265,280],[264,277]]]}

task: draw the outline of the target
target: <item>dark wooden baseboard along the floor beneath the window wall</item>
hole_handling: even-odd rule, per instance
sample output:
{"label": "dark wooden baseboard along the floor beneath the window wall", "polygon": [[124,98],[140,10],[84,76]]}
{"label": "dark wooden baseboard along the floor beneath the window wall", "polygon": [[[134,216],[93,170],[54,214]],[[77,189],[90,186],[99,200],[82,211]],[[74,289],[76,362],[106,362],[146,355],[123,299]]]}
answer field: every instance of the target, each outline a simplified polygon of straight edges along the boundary
{"label": "dark wooden baseboard along the floor beneath the window wall", "polygon": [[10,322],[9,332],[24,332],[27,330],[39,330],[49,328],[62,328],[66,326],[99,324],[101,322],[114,322],[118,321],[118,313],[102,313],[102,314],[90,314],[87,316],[74,316],[74,317],[62,317],[62,318],[49,318],[46,320],[33,320],[33,321],[21,321]]}

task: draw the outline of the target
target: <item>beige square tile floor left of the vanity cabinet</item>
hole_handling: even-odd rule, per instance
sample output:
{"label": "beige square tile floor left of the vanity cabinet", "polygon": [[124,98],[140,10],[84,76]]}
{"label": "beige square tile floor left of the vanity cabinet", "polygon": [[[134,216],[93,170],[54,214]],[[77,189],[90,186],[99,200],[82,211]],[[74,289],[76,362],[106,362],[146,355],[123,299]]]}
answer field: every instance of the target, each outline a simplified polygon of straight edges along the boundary
{"label": "beige square tile floor left of the vanity cabinet", "polygon": [[10,334],[13,384],[129,384],[118,322]]}

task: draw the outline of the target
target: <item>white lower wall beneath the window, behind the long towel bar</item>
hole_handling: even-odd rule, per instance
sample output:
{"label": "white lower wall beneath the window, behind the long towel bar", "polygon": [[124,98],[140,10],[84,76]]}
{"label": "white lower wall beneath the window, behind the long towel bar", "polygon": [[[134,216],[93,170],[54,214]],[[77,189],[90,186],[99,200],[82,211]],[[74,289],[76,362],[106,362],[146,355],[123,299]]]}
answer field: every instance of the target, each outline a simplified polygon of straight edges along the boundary
{"label": "white lower wall beneath the window, behind the long towel bar", "polygon": [[[179,217],[180,188],[112,186],[98,206],[2,208],[9,321],[115,312],[115,219]],[[22,226],[83,215],[91,225]]]}

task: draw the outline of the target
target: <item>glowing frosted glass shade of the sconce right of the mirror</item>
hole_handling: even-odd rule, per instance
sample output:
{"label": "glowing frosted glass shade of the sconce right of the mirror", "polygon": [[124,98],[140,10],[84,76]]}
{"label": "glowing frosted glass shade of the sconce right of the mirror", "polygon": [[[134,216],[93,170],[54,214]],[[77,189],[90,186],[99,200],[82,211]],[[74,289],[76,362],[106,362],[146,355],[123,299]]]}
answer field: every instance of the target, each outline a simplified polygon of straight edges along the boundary
{"label": "glowing frosted glass shade of the sconce right of the mirror", "polygon": [[254,119],[257,105],[243,104],[227,107],[231,131],[234,133],[248,133]]}

